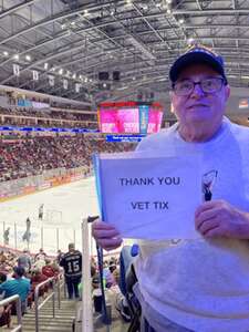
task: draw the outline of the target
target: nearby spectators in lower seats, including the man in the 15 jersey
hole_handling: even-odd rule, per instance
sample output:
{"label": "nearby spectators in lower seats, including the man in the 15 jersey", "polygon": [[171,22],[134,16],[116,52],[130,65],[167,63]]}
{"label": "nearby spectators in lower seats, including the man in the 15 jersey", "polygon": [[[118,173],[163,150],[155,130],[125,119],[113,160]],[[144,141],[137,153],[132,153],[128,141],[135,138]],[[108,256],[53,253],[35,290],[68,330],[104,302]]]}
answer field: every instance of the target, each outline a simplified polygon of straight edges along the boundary
{"label": "nearby spectators in lower seats, including the man in the 15 jersey", "polygon": [[[81,299],[82,292],[82,255],[74,249],[74,245],[69,245],[69,251],[58,251],[53,260],[46,256],[41,248],[37,255],[30,255],[28,249],[21,253],[0,251],[0,300],[19,294],[21,298],[21,312],[24,314],[34,304],[35,287],[54,277],[55,282],[64,274],[68,287],[69,299]],[[92,295],[94,309],[101,312],[100,302],[101,280],[96,259],[91,260]],[[120,261],[115,257],[104,260],[103,282],[105,289],[118,289]],[[51,283],[39,289],[39,297],[45,298],[50,292]],[[115,291],[116,292],[116,291]],[[121,291],[117,292],[121,294]],[[120,300],[120,298],[118,298]],[[123,308],[123,307],[122,307]],[[120,308],[117,308],[120,310]],[[14,303],[0,305],[0,326],[10,325],[11,314],[17,314]]]}

